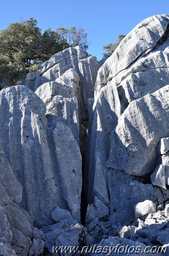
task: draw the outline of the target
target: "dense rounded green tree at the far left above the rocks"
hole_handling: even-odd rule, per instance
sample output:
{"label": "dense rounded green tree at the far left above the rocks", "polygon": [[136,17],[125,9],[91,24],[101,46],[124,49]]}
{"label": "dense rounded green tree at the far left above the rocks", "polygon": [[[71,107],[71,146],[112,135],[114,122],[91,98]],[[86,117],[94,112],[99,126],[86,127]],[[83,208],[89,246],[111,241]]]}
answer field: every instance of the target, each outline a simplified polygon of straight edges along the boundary
{"label": "dense rounded green tree at the far left above the rocks", "polygon": [[39,61],[41,30],[33,18],[11,23],[0,31],[0,53],[11,63],[29,68]]}

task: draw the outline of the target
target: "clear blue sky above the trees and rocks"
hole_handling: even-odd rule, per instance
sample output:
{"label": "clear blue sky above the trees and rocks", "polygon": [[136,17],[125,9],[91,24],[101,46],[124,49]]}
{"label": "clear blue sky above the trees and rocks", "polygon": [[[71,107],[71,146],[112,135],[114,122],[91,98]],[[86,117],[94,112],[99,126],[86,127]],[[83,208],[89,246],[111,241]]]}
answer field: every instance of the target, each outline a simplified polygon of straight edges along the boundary
{"label": "clear blue sky above the trees and rocks", "polygon": [[88,53],[102,58],[102,46],[116,42],[141,20],[169,13],[168,0],[4,0],[0,3],[0,30],[33,17],[42,32],[58,27],[83,28],[88,34]]}

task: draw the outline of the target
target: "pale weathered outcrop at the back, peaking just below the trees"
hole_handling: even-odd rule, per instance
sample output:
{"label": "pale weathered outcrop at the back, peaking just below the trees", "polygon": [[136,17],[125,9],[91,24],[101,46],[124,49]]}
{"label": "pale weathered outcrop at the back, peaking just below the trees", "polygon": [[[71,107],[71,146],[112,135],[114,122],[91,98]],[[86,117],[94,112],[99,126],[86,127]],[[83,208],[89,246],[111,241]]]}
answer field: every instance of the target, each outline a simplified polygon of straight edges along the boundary
{"label": "pale weathered outcrop at the back, peaking just below the trees", "polygon": [[45,102],[53,95],[67,98],[68,93],[71,97],[78,94],[80,113],[86,119],[87,99],[94,97],[98,68],[95,57],[89,56],[79,46],[71,47],[53,55],[35,73],[29,73],[23,84],[36,91]]}

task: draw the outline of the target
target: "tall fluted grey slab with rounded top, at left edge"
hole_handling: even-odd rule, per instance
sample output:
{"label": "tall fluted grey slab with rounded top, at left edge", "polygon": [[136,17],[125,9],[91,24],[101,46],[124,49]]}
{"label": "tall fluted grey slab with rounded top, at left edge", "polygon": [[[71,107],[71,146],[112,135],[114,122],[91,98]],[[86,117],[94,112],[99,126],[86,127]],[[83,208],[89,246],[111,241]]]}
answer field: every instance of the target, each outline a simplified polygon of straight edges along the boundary
{"label": "tall fluted grey slab with rounded top, at left edge", "polygon": [[25,86],[0,92],[0,130],[4,134],[0,144],[23,187],[21,205],[36,225],[52,223],[50,214],[58,201],[50,167],[45,112],[43,101]]}

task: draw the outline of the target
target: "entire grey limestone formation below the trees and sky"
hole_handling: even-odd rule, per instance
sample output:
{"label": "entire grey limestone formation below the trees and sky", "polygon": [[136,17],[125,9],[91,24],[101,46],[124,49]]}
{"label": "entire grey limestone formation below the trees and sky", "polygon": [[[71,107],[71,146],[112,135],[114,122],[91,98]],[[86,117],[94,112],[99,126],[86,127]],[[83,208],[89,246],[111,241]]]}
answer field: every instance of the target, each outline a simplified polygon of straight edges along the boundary
{"label": "entire grey limestone formation below the trees and sky", "polygon": [[0,91],[0,255],[167,255],[168,56],[156,15],[105,62],[71,47]]}

